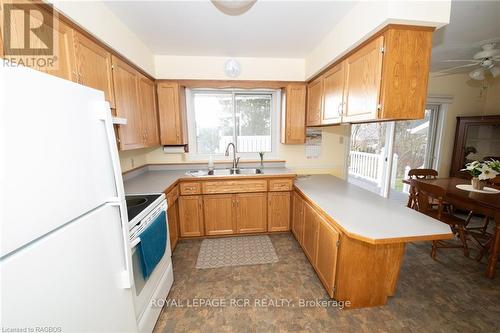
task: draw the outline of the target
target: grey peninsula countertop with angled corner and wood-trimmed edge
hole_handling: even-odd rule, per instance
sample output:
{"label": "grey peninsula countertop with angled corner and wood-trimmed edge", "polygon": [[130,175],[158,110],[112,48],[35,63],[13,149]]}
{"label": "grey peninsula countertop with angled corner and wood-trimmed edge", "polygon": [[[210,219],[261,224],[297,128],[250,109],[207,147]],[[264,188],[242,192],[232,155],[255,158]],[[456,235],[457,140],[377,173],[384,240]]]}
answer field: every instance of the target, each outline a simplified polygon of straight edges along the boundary
{"label": "grey peninsula countertop with angled corner and wood-trimmed edge", "polygon": [[351,238],[382,244],[452,237],[447,224],[335,176],[298,177],[295,187]]}

